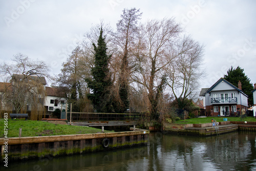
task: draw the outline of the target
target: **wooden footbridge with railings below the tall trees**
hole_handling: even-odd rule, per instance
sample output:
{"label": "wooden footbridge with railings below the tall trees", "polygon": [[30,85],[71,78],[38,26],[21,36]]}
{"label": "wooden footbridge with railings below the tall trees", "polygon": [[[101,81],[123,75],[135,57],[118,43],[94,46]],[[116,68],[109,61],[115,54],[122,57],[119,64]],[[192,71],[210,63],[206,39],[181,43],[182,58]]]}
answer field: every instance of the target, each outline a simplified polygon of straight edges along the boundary
{"label": "wooden footbridge with railings below the tall trees", "polygon": [[[65,116],[66,115],[66,116]],[[68,119],[68,124],[80,126],[126,126],[137,125],[143,117],[139,113],[62,113],[62,119]]]}

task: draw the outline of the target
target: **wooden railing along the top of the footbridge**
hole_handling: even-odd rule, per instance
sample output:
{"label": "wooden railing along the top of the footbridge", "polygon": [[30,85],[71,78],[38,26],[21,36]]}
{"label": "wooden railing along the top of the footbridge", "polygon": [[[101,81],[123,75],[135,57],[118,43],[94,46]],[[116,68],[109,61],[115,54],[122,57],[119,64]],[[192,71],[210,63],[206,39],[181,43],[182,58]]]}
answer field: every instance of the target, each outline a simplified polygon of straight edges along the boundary
{"label": "wooden railing along the top of the footbridge", "polygon": [[[143,114],[139,113],[82,113],[72,112],[71,120],[73,121],[136,121]],[[67,119],[70,121],[70,112],[67,113]]]}

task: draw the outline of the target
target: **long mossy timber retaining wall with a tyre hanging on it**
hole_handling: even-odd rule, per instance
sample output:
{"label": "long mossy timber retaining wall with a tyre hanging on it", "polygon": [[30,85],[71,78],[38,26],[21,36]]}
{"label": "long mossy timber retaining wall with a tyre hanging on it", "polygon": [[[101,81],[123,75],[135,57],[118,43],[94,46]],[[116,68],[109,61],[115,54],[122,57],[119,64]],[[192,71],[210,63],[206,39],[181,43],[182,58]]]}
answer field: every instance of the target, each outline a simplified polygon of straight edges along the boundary
{"label": "long mossy timber retaining wall with a tyre hanging on it", "polygon": [[[81,135],[21,137],[8,139],[8,161],[38,159],[103,151],[113,148],[147,144],[150,131],[136,129],[129,132]],[[0,139],[1,161],[5,157],[5,140]]]}

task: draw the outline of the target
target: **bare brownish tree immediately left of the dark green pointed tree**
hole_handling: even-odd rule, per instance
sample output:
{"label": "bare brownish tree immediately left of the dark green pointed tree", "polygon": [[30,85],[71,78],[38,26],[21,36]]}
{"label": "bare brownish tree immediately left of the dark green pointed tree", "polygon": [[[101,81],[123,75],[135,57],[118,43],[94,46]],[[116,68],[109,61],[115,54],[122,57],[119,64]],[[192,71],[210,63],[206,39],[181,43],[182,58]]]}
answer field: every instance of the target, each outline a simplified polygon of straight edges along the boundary
{"label": "bare brownish tree immediately left of the dark green pointed tree", "polygon": [[80,112],[85,107],[84,102],[88,102],[87,84],[84,77],[90,75],[90,62],[84,57],[84,51],[77,46],[66,62],[62,63],[61,73],[58,75],[57,82],[66,94],[68,102],[73,103],[73,111]]}

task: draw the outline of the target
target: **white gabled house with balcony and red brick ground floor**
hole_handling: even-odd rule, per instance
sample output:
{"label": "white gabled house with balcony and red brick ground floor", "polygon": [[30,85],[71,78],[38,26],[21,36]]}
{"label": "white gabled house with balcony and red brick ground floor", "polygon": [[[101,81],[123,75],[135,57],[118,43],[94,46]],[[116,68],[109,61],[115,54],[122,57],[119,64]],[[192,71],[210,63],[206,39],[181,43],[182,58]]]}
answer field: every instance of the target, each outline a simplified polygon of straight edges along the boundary
{"label": "white gabled house with balcony and red brick ground floor", "polygon": [[241,82],[237,88],[221,78],[209,89],[202,89],[200,95],[204,97],[207,116],[237,116],[248,108],[248,96],[241,90]]}

